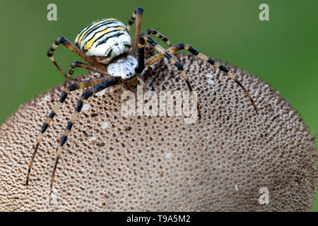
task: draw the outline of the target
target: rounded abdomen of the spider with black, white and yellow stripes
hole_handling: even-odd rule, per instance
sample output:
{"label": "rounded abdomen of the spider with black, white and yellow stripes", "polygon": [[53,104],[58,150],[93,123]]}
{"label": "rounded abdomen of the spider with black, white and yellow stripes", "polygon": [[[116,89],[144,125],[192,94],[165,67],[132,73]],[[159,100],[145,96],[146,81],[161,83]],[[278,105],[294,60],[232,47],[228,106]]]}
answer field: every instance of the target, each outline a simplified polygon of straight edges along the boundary
{"label": "rounded abdomen of the spider with black, white and yellow stripes", "polygon": [[100,63],[108,64],[114,57],[129,54],[131,39],[126,26],[117,19],[102,19],[83,28],[75,44],[89,57],[104,57]]}

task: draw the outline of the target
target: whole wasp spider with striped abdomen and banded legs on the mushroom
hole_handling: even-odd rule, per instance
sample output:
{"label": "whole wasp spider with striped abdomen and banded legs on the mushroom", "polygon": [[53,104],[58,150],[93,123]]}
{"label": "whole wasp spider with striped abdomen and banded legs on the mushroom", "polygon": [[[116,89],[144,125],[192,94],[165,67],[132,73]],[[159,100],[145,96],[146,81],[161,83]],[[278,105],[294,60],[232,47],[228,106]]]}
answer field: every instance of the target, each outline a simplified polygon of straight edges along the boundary
{"label": "whole wasp spider with striped abdomen and banded legs on the mushroom", "polygon": [[[55,159],[54,168],[52,171],[49,195],[52,194],[54,174],[57,169],[57,162],[59,161],[59,157],[61,156],[63,145],[66,143],[72,126],[75,123],[78,114],[81,112],[83,102],[88,100],[88,98],[92,97],[95,93],[100,92],[100,90],[103,90],[112,85],[131,81],[132,79],[138,79],[139,83],[144,86],[143,81],[139,77],[143,69],[151,66],[152,64],[155,64],[155,62],[160,61],[164,57],[167,58],[171,64],[177,66],[177,69],[179,69],[179,71],[182,73],[182,76],[184,77],[189,90],[192,91],[192,86],[189,83],[189,79],[184,71],[183,65],[174,55],[181,49],[186,49],[191,54],[196,55],[196,57],[207,61],[208,63],[220,69],[220,71],[224,71],[225,73],[227,73],[228,76],[230,76],[230,78],[232,78],[232,80],[235,81],[237,85],[240,85],[242,90],[244,90],[247,97],[249,97],[249,100],[252,102],[254,109],[257,111],[257,107],[252,100],[252,97],[249,95],[244,86],[239,81],[237,81],[235,76],[225,66],[218,64],[210,57],[206,57],[206,55],[196,51],[196,49],[194,49],[194,47],[189,44],[170,44],[169,40],[167,40],[167,37],[160,34],[160,32],[158,32],[157,30],[148,29],[146,30],[146,32],[143,32],[140,35],[142,17],[143,8],[137,7],[131,18],[129,18],[127,26],[114,18],[98,20],[86,26],[78,33],[75,44],[67,40],[65,37],[59,37],[57,38],[57,40],[55,40],[54,44],[52,44],[52,47],[47,51],[47,56],[49,57],[49,59],[51,59],[51,61],[61,72],[61,74],[65,76],[66,81],[71,78],[76,67],[88,69],[89,71],[95,71],[101,74],[107,74],[112,76],[112,78],[100,78],[83,81],[80,83],[74,83],[73,85],[69,85],[69,87],[67,87],[66,90],[61,93],[59,102],[57,102],[54,109],[47,117],[45,123],[42,125],[40,135],[37,138],[37,143],[35,145],[33,155],[28,167],[26,185],[28,185],[29,182],[31,167],[37,153],[37,148],[39,148],[40,141],[42,140],[45,131],[51,124],[52,119],[57,114],[59,108],[64,103],[66,97],[69,95],[69,93],[71,93],[71,91],[89,88],[88,90],[83,92],[83,94],[79,98],[76,109],[71,115],[71,119],[67,124],[66,129],[64,130],[63,136],[61,136],[61,139],[59,141],[59,150],[57,152],[57,157]],[[134,23],[135,20],[136,24],[134,29],[134,40],[131,43],[129,29],[131,28],[131,25]],[[157,42],[155,42],[155,40],[153,40],[151,35],[155,35],[156,37],[160,38],[160,40],[166,42],[169,48],[164,49],[163,47],[161,47]],[[144,49],[147,42],[151,44],[151,46],[156,49],[158,53],[153,55],[153,57],[146,59],[145,61]],[[71,64],[69,72],[67,74],[64,73],[64,71],[59,67],[53,57],[54,50],[57,49],[59,44],[63,44],[66,48],[77,54],[88,64],[78,61],[73,62],[73,64]],[[195,96],[194,101],[196,102],[198,116],[200,117],[201,114],[199,112],[199,105],[196,101]]]}

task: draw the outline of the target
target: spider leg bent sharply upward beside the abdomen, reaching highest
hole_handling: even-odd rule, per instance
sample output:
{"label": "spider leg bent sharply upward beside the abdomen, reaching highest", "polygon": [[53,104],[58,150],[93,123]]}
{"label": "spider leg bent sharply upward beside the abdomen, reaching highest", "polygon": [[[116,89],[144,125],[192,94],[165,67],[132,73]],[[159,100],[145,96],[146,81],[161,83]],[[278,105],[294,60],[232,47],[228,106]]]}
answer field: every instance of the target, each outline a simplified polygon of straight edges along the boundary
{"label": "spider leg bent sharply upward beside the abdomen, reaching highest", "polygon": [[132,44],[131,55],[134,55],[136,52],[140,30],[141,30],[141,20],[143,20],[143,8],[137,7],[134,13],[129,18],[128,25],[126,26],[128,31],[130,30],[131,25],[134,23],[135,20],[136,20],[136,25],[135,25],[134,40]]}

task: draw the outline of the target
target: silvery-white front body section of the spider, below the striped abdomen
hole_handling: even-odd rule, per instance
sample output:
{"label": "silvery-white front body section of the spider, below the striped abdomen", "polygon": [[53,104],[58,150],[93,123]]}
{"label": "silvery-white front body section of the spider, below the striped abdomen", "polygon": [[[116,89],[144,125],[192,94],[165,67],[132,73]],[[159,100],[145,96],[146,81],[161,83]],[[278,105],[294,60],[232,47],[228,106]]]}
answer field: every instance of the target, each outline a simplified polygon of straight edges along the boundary
{"label": "silvery-white front body section of the spider, below the striped abdomen", "polygon": [[134,77],[137,66],[137,60],[134,57],[128,55],[127,57],[119,59],[116,62],[108,65],[107,71],[111,76],[126,80]]}

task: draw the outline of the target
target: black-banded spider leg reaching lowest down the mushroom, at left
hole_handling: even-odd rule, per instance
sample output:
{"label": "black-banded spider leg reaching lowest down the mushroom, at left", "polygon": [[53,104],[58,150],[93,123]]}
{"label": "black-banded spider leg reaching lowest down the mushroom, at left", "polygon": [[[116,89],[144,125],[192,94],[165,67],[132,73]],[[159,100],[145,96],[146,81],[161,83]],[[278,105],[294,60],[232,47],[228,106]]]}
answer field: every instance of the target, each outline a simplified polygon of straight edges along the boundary
{"label": "black-banded spider leg reaching lowest down the mushroom, at left", "polygon": [[64,130],[63,135],[61,136],[61,139],[59,140],[59,150],[57,151],[57,157],[55,159],[54,163],[54,168],[52,172],[52,177],[51,177],[51,183],[50,183],[50,191],[49,191],[49,202],[51,201],[51,194],[52,194],[52,187],[53,187],[53,182],[54,182],[54,175],[57,169],[57,163],[59,162],[59,157],[61,156],[61,152],[63,150],[63,145],[67,141],[67,137],[69,136],[69,133],[71,132],[71,129],[73,127],[73,124],[75,123],[78,114],[81,112],[81,109],[83,107],[83,102],[85,100],[88,100],[89,97],[93,96],[95,93],[100,92],[101,90],[104,90],[105,88],[108,88],[112,85],[117,85],[119,83],[118,78],[112,78],[110,80],[104,79],[101,83],[98,83],[97,85],[93,86],[93,88],[90,88],[86,90],[80,97],[80,99],[77,102],[76,109],[71,115],[71,119],[69,123],[66,126],[66,129]]}

